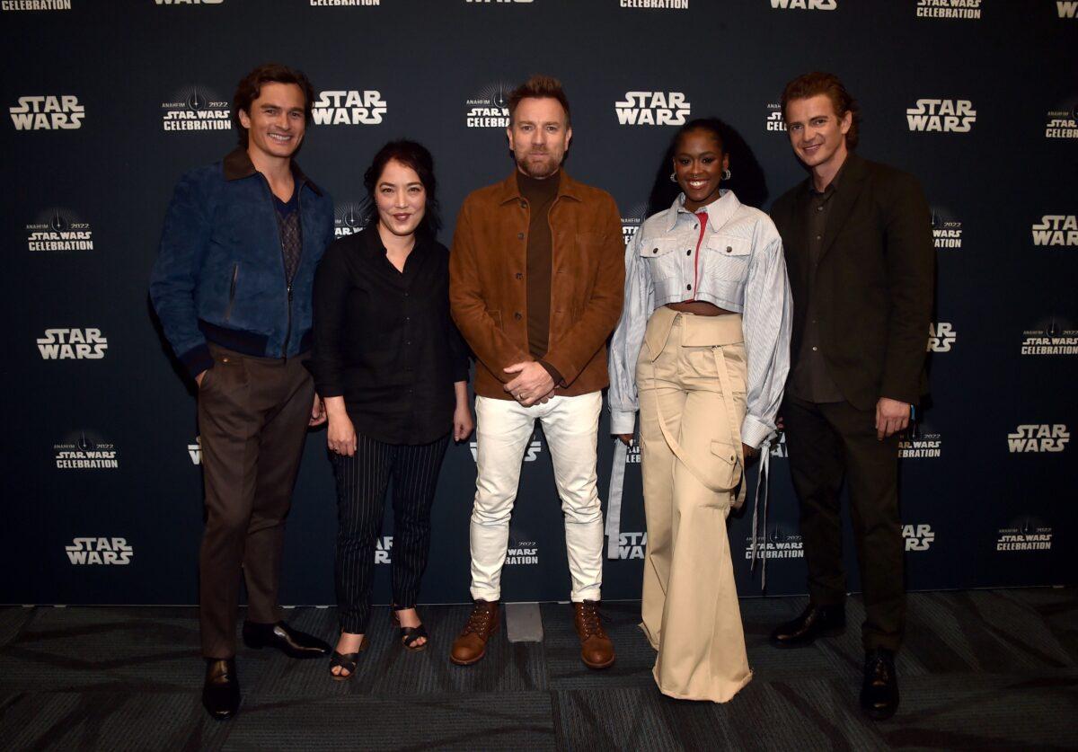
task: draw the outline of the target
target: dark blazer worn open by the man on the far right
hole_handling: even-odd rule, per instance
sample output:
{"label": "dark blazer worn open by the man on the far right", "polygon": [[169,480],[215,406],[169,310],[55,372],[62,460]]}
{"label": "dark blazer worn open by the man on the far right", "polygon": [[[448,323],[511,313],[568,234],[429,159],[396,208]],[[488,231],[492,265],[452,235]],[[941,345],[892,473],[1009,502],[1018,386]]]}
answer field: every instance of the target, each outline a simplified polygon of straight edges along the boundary
{"label": "dark blazer worn open by the man on the far right", "polygon": [[846,401],[873,409],[887,396],[916,404],[926,391],[936,251],[931,212],[913,176],[851,154],[831,198],[815,289],[808,289],[810,176],[771,209],[793,293],[790,373],[808,295],[815,296],[824,361]]}

